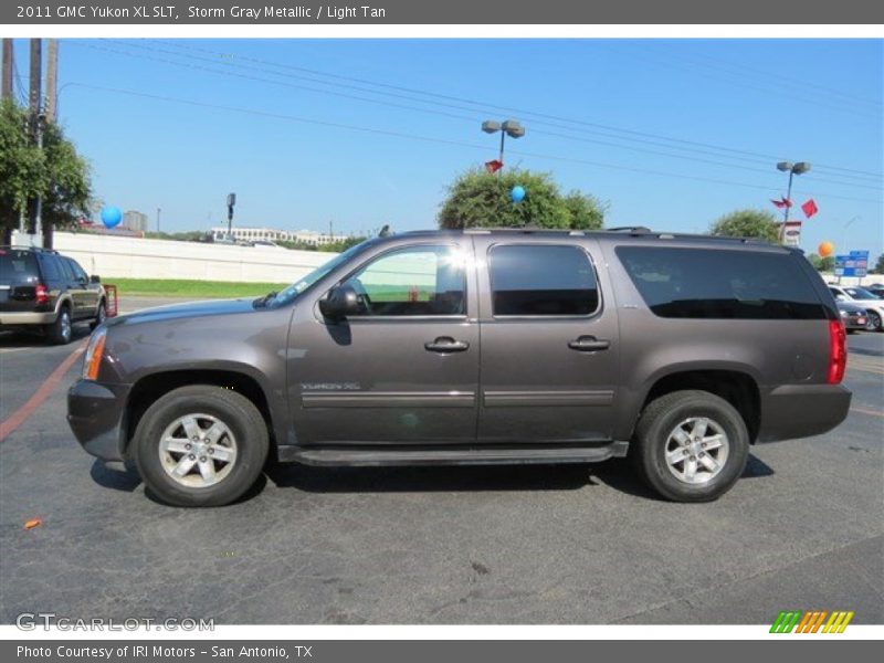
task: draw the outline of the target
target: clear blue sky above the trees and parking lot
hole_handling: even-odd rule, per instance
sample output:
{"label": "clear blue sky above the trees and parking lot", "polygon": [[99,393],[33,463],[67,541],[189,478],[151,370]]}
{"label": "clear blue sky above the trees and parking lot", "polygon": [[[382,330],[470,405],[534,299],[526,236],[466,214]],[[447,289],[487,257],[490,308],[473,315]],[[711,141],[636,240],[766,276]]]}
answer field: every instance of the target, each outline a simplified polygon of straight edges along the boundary
{"label": "clear blue sky above the trees and parking lot", "polygon": [[151,229],[158,207],[164,230],[219,224],[229,191],[241,225],[431,228],[453,177],[496,156],[481,122],[513,117],[527,135],[507,165],[607,201],[609,225],[704,231],[737,208],[774,209],[786,158],[813,166],[793,192],[820,209],[806,250],[884,244],[880,40],[63,40],[60,52],[60,117],[96,193]]}

